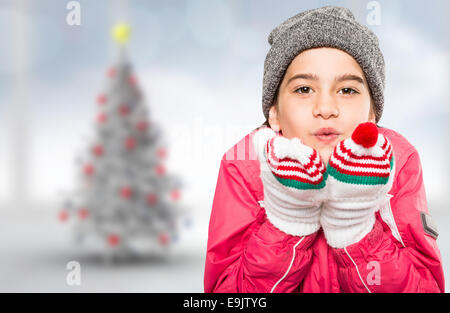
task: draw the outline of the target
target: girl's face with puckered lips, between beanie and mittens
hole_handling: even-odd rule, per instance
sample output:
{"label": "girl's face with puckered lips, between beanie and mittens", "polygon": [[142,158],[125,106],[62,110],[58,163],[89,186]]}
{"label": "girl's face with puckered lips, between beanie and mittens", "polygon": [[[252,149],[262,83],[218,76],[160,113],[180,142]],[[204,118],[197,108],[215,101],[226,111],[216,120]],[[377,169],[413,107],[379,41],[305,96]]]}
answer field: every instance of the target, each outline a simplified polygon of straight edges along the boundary
{"label": "girl's face with puckered lips, between beanie and mittens", "polygon": [[[352,76],[339,79],[342,75]],[[336,144],[351,137],[358,124],[375,123],[364,72],[351,55],[339,49],[300,53],[287,68],[275,101],[278,111],[274,105],[269,113],[272,129],[281,130],[287,138],[300,138],[326,163]],[[333,128],[338,134],[316,135],[321,128]]]}

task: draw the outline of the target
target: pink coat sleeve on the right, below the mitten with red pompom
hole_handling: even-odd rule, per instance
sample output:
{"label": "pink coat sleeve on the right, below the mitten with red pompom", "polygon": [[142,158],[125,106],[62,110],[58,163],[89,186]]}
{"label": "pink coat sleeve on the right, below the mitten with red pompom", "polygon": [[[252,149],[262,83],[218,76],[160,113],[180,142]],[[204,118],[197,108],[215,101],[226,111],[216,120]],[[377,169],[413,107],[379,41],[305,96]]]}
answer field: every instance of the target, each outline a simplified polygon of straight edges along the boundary
{"label": "pink coat sleeve on the right, below the mitten with red pompom", "polygon": [[428,208],[419,154],[413,150],[391,189],[392,224],[380,211],[360,242],[333,249],[344,292],[444,292],[437,233],[426,231],[423,222]]}

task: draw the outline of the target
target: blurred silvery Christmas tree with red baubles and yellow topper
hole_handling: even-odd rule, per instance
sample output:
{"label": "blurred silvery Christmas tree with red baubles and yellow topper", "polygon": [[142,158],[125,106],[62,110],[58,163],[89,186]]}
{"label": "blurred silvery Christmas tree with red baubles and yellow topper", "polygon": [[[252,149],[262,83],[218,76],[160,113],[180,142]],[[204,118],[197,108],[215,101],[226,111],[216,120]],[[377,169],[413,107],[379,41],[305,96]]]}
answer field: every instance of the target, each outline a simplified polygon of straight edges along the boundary
{"label": "blurred silvery Christmas tree with red baubles and yellow topper", "polygon": [[78,157],[80,186],[64,201],[62,222],[75,238],[107,257],[165,253],[183,217],[181,181],[164,166],[167,148],[127,61],[130,29],[116,26],[119,60],[97,97],[95,135]]}

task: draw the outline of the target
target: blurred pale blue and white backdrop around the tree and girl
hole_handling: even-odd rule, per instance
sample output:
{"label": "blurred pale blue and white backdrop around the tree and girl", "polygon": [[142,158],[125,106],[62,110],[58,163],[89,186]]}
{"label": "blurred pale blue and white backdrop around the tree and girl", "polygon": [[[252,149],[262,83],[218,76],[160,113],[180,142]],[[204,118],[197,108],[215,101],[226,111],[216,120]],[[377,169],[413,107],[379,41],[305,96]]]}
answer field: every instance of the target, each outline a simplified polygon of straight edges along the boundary
{"label": "blurred pale blue and white backdrop around the tree and girl", "polygon": [[[68,23],[70,2],[79,5],[79,25]],[[375,24],[373,3],[381,13]],[[448,1],[1,0],[0,291],[203,292],[220,159],[264,122],[267,36],[324,5],[350,8],[379,37],[386,60],[379,124],[419,151],[448,277]],[[80,254],[57,213],[76,187],[75,157],[117,59],[111,29],[122,21],[132,28],[128,57],[166,138],[167,168],[185,182],[180,201],[192,221],[168,259],[111,265]],[[81,266],[75,286],[67,282],[71,261]]]}

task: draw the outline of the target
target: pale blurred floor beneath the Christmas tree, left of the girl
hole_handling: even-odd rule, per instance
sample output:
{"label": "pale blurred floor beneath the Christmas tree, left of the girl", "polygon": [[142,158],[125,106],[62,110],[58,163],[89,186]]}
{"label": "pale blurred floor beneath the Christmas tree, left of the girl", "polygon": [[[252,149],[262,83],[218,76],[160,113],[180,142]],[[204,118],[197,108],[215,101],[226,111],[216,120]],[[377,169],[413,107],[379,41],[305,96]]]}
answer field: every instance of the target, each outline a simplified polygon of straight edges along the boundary
{"label": "pale blurred floor beneath the Christmas tree, left of the girl", "polygon": [[206,217],[165,258],[108,262],[74,245],[54,211],[21,211],[0,212],[0,292],[203,292]]}

